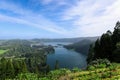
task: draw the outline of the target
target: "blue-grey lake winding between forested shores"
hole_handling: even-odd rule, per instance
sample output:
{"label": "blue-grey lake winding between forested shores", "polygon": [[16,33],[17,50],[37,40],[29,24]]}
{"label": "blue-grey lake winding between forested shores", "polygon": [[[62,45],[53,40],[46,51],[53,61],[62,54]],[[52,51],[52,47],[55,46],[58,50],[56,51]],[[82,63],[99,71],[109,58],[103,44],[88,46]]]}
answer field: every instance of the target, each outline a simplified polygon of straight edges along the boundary
{"label": "blue-grey lake winding between forested shores", "polygon": [[67,42],[50,42],[45,43],[46,45],[57,46],[54,47],[55,53],[51,53],[47,55],[47,64],[50,65],[51,69],[54,69],[56,60],[59,61],[60,68],[85,68],[86,67],[86,56],[75,52],[73,50],[67,50],[60,44],[70,44]]}

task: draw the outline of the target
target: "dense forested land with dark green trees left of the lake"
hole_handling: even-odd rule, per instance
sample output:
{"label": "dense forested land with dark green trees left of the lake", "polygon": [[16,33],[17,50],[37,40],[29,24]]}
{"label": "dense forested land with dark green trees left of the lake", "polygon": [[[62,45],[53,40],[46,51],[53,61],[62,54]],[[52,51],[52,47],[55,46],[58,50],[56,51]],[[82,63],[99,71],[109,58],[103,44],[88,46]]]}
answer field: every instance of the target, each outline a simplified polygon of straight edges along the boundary
{"label": "dense forested land with dark green trees left of the lake", "polygon": [[14,78],[19,73],[47,73],[46,55],[54,48],[37,44],[28,40],[0,41],[0,79]]}

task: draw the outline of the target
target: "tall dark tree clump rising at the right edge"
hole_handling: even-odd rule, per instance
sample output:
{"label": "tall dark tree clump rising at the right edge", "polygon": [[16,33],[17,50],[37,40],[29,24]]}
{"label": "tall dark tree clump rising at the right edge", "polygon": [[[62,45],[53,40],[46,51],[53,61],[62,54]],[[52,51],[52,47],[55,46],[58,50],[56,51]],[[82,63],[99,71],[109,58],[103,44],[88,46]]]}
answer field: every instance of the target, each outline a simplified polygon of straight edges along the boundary
{"label": "tall dark tree clump rising at the right edge", "polygon": [[107,31],[95,45],[89,49],[88,63],[95,59],[107,58],[111,62],[120,62],[120,22],[116,23],[113,33]]}

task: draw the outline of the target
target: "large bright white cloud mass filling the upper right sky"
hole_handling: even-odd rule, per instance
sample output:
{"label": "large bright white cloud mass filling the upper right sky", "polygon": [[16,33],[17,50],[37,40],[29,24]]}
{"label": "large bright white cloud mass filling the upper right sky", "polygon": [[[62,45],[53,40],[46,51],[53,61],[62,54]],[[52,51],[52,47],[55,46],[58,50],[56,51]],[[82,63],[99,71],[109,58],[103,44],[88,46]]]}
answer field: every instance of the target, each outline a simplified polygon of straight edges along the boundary
{"label": "large bright white cloud mass filling the upper right sky", "polygon": [[120,20],[120,0],[82,0],[66,10],[63,21],[72,20],[74,34],[81,36],[101,35],[113,30]]}

